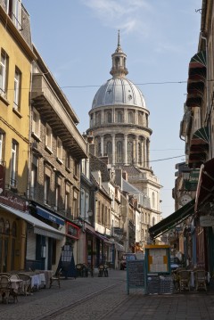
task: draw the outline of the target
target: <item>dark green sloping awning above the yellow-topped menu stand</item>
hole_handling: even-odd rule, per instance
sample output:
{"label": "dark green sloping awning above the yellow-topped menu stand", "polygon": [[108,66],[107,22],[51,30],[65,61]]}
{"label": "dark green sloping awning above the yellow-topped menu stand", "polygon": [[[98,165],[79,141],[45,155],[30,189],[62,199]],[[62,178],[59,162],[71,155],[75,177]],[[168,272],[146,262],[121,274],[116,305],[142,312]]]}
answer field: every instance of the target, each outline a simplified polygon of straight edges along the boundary
{"label": "dark green sloping awning above the yellow-topped menu stand", "polygon": [[193,215],[194,202],[195,200],[193,199],[192,201],[186,203],[185,206],[172,213],[169,217],[165,217],[156,225],[151,226],[149,228],[151,237],[156,238],[157,236],[164,234],[168,230],[184,221],[187,217]]}

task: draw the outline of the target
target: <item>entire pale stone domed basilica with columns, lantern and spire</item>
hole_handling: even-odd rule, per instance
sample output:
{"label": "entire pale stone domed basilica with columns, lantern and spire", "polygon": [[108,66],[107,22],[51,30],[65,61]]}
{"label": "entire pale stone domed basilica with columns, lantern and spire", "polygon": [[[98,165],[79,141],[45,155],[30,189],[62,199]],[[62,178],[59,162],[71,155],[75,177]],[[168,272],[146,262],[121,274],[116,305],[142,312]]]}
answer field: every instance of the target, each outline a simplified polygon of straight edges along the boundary
{"label": "entire pale stone domed basilica with columns, lantern and spire", "polygon": [[161,185],[150,167],[150,111],[144,94],[127,78],[127,55],[120,46],[119,35],[111,58],[112,78],[95,94],[87,134],[94,137],[95,156],[107,158],[111,168],[115,172],[120,169],[128,184],[134,186],[131,193],[138,199],[144,225],[144,236],[140,238],[146,240],[147,227],[161,220]]}

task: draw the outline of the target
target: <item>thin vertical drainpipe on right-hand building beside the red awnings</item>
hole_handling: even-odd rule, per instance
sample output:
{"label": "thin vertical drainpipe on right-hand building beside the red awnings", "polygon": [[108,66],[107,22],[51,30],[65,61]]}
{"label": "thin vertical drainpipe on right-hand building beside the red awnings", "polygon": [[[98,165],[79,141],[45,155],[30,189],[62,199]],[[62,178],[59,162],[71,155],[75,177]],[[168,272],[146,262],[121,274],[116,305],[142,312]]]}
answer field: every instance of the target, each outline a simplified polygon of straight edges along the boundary
{"label": "thin vertical drainpipe on right-hand building beside the red awnings", "polygon": [[203,37],[201,33],[201,39],[205,41],[206,44],[206,83],[207,83],[207,113],[206,113],[206,119],[205,123],[209,127],[209,158],[212,159],[212,139],[211,139],[211,110],[210,107],[210,65],[209,65],[209,54],[208,54],[208,41],[207,37]]}

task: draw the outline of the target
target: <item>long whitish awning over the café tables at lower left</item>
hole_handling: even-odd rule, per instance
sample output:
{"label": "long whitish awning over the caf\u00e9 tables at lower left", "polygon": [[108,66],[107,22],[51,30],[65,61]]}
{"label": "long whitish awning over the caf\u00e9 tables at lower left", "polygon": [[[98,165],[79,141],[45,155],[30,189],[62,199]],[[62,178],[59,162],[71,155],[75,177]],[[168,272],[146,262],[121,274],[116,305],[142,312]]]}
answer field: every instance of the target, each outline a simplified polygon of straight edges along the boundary
{"label": "long whitish awning over the caf\u00e9 tables at lower left", "polygon": [[64,234],[60,232],[59,230],[56,230],[53,228],[53,226],[46,225],[43,221],[40,221],[37,219],[37,217],[33,217],[29,215],[29,213],[23,212],[18,209],[13,209],[12,207],[6,206],[2,203],[0,203],[0,208],[11,212],[13,215],[17,217],[21,217],[21,219],[24,219],[27,221],[30,225],[34,226],[34,233],[35,234],[42,234],[45,236],[48,236],[53,239],[63,240]]}

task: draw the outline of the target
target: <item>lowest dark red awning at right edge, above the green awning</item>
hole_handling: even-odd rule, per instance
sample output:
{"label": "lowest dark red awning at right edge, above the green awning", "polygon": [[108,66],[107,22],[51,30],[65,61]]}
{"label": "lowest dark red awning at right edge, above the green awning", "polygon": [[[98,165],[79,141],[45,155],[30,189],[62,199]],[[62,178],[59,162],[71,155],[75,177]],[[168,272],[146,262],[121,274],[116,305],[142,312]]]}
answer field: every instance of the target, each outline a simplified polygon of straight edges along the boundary
{"label": "lowest dark red awning at right edge, above the green awning", "polygon": [[195,211],[205,201],[209,201],[214,195],[214,159],[208,160],[201,166],[199,183],[195,198]]}

